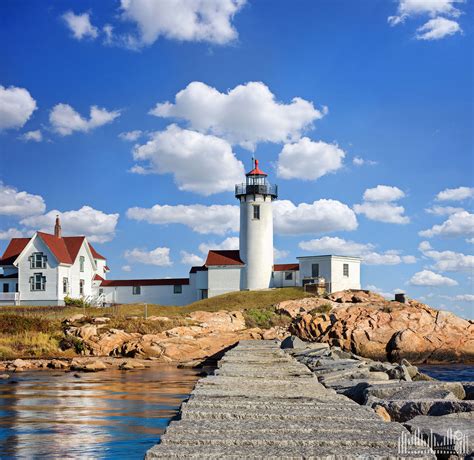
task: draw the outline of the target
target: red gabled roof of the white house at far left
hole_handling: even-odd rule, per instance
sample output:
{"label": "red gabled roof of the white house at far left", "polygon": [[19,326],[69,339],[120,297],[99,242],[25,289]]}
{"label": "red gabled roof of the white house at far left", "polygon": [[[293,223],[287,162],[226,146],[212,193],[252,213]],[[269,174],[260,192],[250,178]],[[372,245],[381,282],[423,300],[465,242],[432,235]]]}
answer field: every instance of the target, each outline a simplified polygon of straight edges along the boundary
{"label": "red gabled roof of the white house at far left", "polygon": [[[85,240],[84,236],[64,236],[58,238],[57,236],[44,232],[37,232],[37,234],[59,263],[69,265],[72,265],[76,260],[77,254]],[[31,238],[12,238],[0,259],[0,266],[13,265],[30,240]],[[104,257],[101,256],[90,243],[89,248],[95,259],[104,259]]]}

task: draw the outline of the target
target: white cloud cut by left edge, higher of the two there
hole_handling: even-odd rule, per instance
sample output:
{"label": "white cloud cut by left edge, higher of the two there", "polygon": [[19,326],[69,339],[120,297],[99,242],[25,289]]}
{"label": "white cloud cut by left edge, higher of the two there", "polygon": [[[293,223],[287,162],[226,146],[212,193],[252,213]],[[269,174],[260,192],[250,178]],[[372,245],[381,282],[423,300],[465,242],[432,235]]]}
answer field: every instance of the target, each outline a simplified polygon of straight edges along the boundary
{"label": "white cloud cut by left edge, higher of the two there", "polygon": [[36,101],[25,88],[0,85],[0,131],[21,128],[36,110]]}

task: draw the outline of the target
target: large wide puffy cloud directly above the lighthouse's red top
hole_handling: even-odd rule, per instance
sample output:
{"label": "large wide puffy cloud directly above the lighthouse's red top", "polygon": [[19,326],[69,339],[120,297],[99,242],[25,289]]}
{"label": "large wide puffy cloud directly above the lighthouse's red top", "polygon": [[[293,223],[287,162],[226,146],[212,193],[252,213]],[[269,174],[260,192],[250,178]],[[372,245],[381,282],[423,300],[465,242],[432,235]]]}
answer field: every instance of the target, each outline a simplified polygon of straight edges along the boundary
{"label": "large wide puffy cloud directly above the lighthouse's red top", "polygon": [[231,144],[255,149],[258,142],[294,142],[327,113],[295,97],[289,104],[275,100],[262,82],[249,82],[221,93],[202,82],[178,92],[175,103],[159,103],[151,114],[187,120],[191,128],[215,134]]}

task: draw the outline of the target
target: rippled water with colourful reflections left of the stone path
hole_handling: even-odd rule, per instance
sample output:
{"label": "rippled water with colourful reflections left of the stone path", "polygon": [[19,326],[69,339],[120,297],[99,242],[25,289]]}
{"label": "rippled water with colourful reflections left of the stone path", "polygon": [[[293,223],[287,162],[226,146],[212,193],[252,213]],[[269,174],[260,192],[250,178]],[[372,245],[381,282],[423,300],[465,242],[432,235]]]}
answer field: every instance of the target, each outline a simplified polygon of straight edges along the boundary
{"label": "rippled water with colourful reflections left of the stone path", "polygon": [[0,458],[143,458],[198,378],[166,365],[76,375],[0,380]]}

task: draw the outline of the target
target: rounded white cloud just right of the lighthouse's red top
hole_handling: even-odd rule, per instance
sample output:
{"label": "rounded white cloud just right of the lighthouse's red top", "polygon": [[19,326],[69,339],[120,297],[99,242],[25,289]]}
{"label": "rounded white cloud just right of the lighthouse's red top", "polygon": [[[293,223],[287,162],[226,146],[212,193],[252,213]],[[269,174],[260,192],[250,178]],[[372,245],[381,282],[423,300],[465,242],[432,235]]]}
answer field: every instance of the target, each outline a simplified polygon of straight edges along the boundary
{"label": "rounded white cloud just right of the lighthouse's red top", "polygon": [[342,168],[345,155],[337,145],[303,137],[294,144],[283,146],[277,174],[283,179],[316,180]]}

